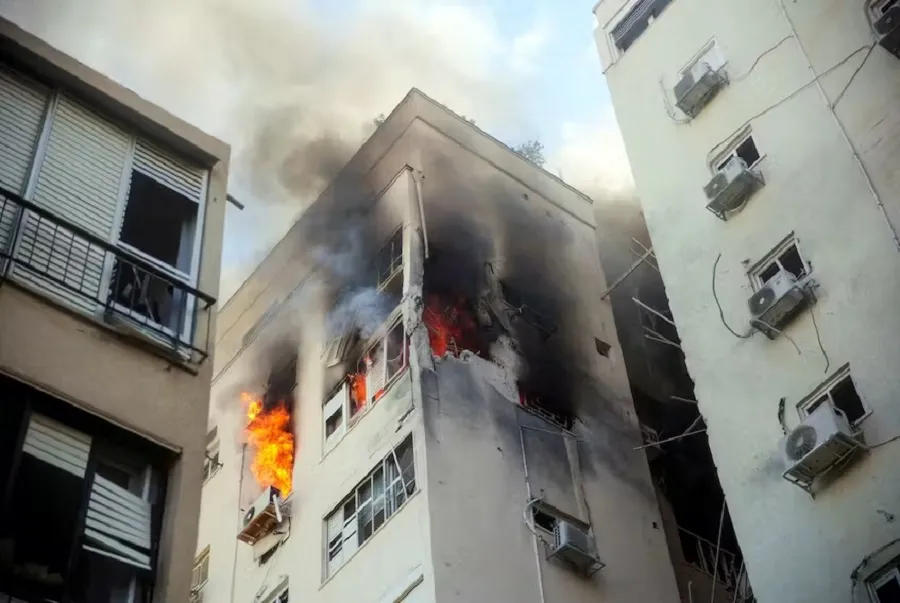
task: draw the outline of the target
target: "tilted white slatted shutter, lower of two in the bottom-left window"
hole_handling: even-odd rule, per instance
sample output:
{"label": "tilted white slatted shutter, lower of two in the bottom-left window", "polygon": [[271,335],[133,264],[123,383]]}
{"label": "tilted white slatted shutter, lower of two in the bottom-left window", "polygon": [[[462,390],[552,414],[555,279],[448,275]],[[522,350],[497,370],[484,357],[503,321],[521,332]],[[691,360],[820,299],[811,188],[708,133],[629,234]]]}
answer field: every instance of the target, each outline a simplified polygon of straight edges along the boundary
{"label": "tilted white slatted shutter, lower of two in the bottom-left window", "polygon": [[94,476],[84,535],[84,548],[122,563],[150,567],[150,503]]}

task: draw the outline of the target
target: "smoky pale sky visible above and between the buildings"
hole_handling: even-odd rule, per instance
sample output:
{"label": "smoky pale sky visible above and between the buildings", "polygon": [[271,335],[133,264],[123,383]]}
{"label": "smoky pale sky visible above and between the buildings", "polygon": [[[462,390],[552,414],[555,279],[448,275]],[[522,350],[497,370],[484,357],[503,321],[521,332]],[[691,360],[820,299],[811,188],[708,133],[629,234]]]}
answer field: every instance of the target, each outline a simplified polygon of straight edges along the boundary
{"label": "smoky pale sky visible above and between the buildings", "polygon": [[295,124],[278,141],[285,153],[322,131],[356,147],[372,119],[416,86],[510,145],[541,140],[546,168],[589,194],[628,189],[591,8],[590,0],[0,0],[3,16],[232,144],[230,188],[247,209],[229,209],[222,300],[315,197],[250,182],[251,171],[267,171],[252,159],[261,116]]}

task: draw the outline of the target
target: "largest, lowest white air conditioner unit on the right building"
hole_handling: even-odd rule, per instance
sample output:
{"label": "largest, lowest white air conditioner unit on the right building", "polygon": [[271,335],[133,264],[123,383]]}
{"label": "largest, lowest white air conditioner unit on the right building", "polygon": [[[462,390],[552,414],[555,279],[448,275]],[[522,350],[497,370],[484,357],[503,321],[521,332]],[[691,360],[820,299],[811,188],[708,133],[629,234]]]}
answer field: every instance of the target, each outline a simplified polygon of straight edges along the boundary
{"label": "largest, lowest white air conditioner unit on the right building", "polygon": [[844,413],[823,402],[781,440],[783,476],[808,490],[815,478],[862,448]]}

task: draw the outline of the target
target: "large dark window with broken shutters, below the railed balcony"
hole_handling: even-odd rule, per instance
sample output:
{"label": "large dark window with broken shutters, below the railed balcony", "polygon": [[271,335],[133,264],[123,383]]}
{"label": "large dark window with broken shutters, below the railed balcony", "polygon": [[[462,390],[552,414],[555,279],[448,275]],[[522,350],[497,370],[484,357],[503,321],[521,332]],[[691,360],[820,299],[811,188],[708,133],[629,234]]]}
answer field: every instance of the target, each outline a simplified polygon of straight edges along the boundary
{"label": "large dark window with broken shutters, below the railed balcony", "polygon": [[4,594],[92,603],[143,600],[159,539],[159,518],[151,516],[162,488],[158,474],[138,449],[107,440],[111,426],[91,435],[44,414],[22,421],[20,460],[0,513],[0,575],[18,580],[4,584]]}

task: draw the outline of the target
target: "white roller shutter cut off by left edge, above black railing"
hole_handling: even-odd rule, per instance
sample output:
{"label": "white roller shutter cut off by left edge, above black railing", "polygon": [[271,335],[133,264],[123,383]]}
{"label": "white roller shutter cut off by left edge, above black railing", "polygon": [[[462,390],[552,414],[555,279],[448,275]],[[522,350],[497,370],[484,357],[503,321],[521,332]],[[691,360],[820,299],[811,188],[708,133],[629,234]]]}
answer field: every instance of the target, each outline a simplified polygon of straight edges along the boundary
{"label": "white roller shutter cut off by left edge, above black railing", "polygon": [[[0,187],[25,192],[50,91],[0,67]],[[7,250],[18,207],[0,194],[0,250]]]}

